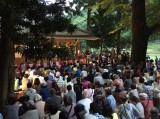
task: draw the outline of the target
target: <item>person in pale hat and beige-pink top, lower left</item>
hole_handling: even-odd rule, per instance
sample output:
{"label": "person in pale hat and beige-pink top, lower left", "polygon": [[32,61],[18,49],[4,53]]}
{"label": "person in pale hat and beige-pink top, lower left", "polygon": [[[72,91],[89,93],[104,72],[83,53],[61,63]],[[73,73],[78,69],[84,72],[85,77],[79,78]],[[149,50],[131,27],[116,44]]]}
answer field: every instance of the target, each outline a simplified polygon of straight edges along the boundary
{"label": "person in pale hat and beige-pink top, lower left", "polygon": [[44,107],[45,102],[42,101],[42,97],[39,94],[36,94],[33,98],[33,101],[35,103],[35,107],[39,112],[40,119],[44,119],[45,113],[44,113]]}

